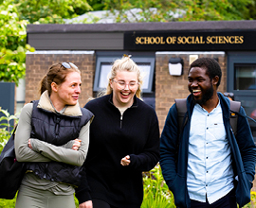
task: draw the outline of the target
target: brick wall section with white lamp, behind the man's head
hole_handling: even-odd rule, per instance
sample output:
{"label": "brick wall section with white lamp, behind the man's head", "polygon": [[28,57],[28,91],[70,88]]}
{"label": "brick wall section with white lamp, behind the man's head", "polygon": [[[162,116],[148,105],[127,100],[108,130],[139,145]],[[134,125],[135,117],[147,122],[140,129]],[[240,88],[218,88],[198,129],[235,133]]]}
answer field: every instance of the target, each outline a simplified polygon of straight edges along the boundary
{"label": "brick wall section with white lamp, behind the man's head", "polygon": [[[190,95],[188,90],[188,71],[190,54],[155,54],[155,112],[158,116],[160,131],[162,131],[169,109],[175,98],[185,98]],[[224,54],[198,54],[198,58],[217,58],[223,77],[218,91],[225,92],[227,85],[227,64]],[[183,75],[171,76],[168,63],[170,58],[182,58],[184,61]]]}

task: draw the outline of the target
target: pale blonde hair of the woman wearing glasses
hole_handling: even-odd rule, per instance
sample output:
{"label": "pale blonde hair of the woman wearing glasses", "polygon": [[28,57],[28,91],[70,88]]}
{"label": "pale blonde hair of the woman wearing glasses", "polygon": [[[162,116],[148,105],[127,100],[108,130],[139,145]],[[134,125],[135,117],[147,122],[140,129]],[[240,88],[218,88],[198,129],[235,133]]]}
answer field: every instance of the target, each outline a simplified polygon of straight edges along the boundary
{"label": "pale blonde hair of the woman wearing glasses", "polygon": [[137,73],[137,82],[138,82],[138,87],[137,87],[137,98],[141,99],[141,88],[142,88],[142,76],[140,74],[140,70],[137,66],[137,64],[135,63],[135,61],[133,61],[132,59],[130,59],[131,56],[128,55],[124,55],[121,59],[116,60],[111,68],[110,73],[108,74],[107,78],[108,78],[108,84],[106,87],[106,91],[104,92],[104,95],[110,95],[113,92],[113,89],[111,88],[110,85],[110,80],[113,80],[114,78],[116,78],[118,71],[122,72],[122,71],[127,71],[127,72],[136,72]]}

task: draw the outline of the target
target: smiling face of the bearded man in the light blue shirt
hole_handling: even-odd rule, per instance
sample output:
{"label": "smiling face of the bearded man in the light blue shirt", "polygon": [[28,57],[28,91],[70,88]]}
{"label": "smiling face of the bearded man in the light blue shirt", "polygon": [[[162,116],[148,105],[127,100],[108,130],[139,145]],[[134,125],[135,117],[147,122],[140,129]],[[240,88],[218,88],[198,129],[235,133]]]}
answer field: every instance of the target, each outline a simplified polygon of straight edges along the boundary
{"label": "smiling face of the bearded man in the light blue shirt", "polygon": [[[207,75],[206,69],[192,67],[188,77],[188,88],[196,103],[203,106],[212,98],[212,95],[216,92],[216,84],[214,81],[215,79],[210,79]],[[213,83],[215,87],[213,87]]]}

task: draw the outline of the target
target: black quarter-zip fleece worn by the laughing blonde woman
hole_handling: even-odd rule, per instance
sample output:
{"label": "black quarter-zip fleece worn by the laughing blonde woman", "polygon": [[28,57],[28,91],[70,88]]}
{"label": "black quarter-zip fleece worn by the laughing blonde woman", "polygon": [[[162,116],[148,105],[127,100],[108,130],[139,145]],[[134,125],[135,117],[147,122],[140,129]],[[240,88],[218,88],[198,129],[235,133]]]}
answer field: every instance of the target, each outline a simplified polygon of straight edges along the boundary
{"label": "black quarter-zip fleece worn by the laughing blonde woman", "polygon": [[[115,207],[140,207],[141,172],[149,171],[159,160],[159,127],[154,109],[135,96],[121,120],[112,95],[94,99],[85,108],[95,118],[84,163],[86,174],[76,197],[80,203],[96,198]],[[126,155],[130,155],[131,164],[122,166],[120,160]]]}

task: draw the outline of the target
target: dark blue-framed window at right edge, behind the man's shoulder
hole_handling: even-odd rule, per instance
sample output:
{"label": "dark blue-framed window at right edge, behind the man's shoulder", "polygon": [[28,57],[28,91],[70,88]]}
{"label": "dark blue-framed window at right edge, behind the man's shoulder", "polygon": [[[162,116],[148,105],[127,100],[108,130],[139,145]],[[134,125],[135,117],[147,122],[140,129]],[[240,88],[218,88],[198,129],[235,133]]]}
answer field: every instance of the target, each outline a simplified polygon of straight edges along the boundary
{"label": "dark blue-framed window at right edge, behind the man's shoulder", "polygon": [[[241,102],[248,116],[256,119],[256,53],[228,53],[227,91]],[[256,123],[248,122],[256,143]]]}

